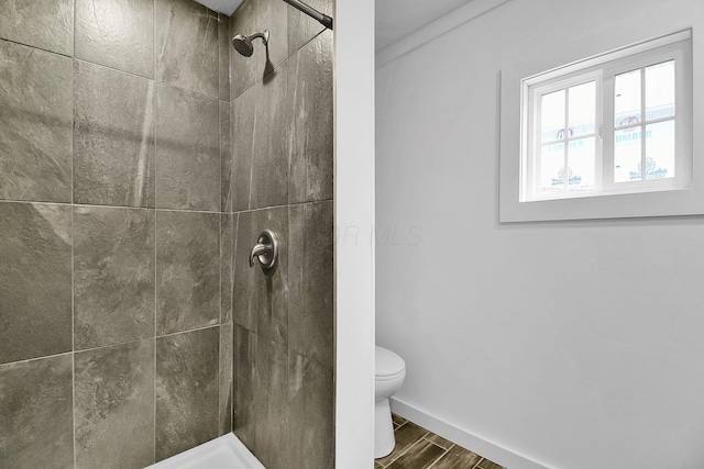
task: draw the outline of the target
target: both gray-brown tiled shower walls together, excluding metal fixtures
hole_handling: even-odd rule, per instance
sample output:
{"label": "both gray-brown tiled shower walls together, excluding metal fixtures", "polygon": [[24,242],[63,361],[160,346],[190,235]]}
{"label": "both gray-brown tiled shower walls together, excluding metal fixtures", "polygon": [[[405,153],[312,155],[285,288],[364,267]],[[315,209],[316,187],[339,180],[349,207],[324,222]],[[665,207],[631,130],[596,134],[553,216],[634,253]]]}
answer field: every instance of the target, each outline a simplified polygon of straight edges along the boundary
{"label": "both gray-brown tiled shower walls together, excluding metal fixtures", "polygon": [[0,467],[231,429],[270,469],[333,467],[331,32],[280,0],[0,10]]}

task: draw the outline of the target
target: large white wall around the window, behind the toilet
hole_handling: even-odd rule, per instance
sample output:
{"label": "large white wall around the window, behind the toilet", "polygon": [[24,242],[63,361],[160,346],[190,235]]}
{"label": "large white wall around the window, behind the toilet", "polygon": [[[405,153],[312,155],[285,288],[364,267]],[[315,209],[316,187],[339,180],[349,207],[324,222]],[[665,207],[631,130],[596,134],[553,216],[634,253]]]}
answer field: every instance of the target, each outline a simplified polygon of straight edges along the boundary
{"label": "large white wall around the window, behind the toilet", "polygon": [[704,217],[497,222],[499,71],[690,26],[701,110],[700,0],[512,0],[377,68],[399,402],[553,468],[704,468]]}

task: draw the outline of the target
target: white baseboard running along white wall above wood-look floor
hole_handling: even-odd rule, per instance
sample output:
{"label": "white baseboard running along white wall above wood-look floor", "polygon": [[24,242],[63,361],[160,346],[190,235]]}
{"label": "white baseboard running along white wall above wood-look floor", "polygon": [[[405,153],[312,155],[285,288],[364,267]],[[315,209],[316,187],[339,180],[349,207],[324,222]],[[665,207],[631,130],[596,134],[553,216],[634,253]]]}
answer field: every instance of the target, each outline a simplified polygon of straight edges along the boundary
{"label": "white baseboard running along white wall above wood-look floor", "polygon": [[548,466],[537,462],[526,456],[504,448],[465,429],[441,421],[424,411],[413,407],[395,398],[391,399],[392,412],[416,423],[430,432],[442,436],[458,445],[482,455],[504,466],[507,469],[550,469]]}

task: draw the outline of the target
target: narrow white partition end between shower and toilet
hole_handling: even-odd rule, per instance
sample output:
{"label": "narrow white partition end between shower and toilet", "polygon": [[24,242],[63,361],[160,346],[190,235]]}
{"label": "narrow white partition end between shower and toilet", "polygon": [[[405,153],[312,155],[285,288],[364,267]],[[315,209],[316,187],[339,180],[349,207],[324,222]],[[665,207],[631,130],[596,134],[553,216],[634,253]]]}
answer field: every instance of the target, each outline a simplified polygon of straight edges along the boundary
{"label": "narrow white partition end between shower and toilet", "polygon": [[336,468],[374,460],[374,0],[334,12]]}

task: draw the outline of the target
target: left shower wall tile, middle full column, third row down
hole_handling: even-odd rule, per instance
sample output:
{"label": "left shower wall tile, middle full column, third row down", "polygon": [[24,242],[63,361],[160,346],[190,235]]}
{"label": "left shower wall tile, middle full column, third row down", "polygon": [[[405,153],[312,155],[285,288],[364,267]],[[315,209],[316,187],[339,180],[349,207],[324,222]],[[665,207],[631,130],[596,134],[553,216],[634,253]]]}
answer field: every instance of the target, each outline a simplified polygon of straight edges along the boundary
{"label": "left shower wall tile, middle full column, third row down", "polygon": [[154,336],[154,211],[74,209],[75,347]]}

